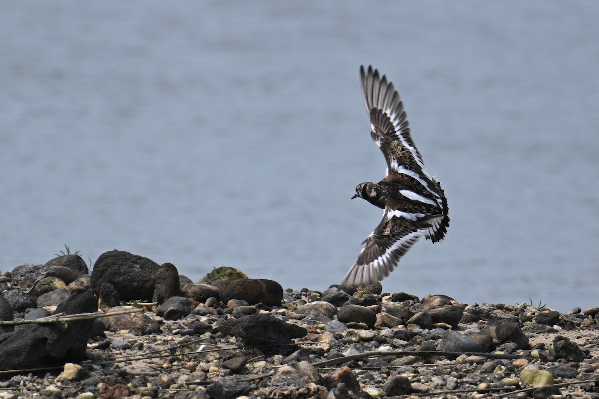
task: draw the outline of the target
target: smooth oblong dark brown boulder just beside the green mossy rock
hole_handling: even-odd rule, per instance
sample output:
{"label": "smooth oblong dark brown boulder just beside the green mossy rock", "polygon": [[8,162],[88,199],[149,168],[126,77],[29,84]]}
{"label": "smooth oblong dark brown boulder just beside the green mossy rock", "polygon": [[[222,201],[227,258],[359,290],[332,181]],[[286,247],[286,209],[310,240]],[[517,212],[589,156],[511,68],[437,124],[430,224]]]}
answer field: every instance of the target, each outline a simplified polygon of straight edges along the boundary
{"label": "smooth oblong dark brown boulder just beside the green mossy rock", "polygon": [[220,300],[243,299],[249,304],[264,303],[267,306],[280,306],[283,288],[273,280],[234,279],[226,280],[219,286]]}

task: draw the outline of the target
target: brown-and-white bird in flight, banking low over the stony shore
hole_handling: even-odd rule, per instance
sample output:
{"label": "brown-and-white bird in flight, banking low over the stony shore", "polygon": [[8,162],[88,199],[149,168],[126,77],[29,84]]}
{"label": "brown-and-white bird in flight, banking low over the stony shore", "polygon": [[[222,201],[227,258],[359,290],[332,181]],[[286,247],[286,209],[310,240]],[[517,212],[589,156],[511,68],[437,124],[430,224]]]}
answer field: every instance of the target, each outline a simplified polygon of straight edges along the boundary
{"label": "brown-and-white bird in flight, banking low over the stony shore", "polygon": [[449,227],[445,193],[441,183],[426,172],[399,93],[373,66],[366,70],[362,65],[360,77],[370,135],[385,156],[387,170],[378,183],[358,184],[352,199],[361,197],[384,213],[343,278],[340,287],[344,290],[382,281],[420,237],[439,242]]}

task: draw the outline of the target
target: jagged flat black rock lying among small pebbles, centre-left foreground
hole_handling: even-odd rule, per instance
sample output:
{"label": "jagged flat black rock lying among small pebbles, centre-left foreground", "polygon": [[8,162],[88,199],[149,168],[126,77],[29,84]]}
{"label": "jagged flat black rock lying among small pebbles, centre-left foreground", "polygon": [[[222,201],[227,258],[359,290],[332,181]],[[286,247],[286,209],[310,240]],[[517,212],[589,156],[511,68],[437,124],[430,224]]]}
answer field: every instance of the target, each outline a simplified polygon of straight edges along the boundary
{"label": "jagged flat black rock lying among small pebbles, centre-left foreground", "polygon": [[[308,331],[304,327],[286,323],[270,315],[248,315],[223,320],[218,324],[219,331],[225,335],[241,337],[245,346],[263,346],[265,353],[291,353],[295,348],[292,338],[304,337]],[[279,348],[279,345],[280,346]]]}

